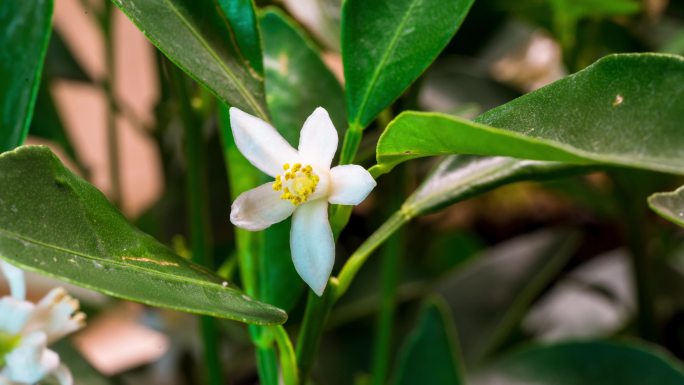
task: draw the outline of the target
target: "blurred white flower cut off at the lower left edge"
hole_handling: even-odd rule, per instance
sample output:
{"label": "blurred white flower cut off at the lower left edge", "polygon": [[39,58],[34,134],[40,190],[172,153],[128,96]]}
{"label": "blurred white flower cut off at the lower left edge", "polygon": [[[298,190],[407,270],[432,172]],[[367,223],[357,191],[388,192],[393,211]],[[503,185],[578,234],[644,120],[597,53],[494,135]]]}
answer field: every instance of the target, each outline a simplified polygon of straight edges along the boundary
{"label": "blurred white flower cut off at the lower left edge", "polygon": [[47,345],[84,325],[78,301],[62,288],[38,304],[24,300],[23,272],[0,260],[12,296],[0,298],[0,385],[33,385],[46,377],[71,385],[69,369]]}

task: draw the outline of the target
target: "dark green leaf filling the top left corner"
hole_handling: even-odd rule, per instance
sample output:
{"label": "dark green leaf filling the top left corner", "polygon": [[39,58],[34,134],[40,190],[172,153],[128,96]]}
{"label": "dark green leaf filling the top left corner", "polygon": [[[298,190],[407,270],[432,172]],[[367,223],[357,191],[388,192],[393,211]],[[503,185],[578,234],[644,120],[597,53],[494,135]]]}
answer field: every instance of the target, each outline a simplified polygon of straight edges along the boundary
{"label": "dark green leaf filling the top left corner", "polygon": [[52,0],[0,7],[0,152],[28,134],[52,26]]}

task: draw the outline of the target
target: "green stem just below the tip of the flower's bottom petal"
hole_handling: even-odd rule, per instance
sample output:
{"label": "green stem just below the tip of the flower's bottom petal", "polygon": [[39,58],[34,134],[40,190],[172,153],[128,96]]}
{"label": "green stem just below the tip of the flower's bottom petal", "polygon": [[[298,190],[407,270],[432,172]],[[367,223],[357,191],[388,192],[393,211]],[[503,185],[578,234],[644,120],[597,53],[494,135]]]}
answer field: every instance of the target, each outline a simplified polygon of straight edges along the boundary
{"label": "green stem just below the tip of the flower's bottom petal", "polygon": [[311,369],[313,368],[314,358],[320,345],[325,321],[330,315],[330,310],[334,301],[336,285],[334,280],[328,282],[328,287],[322,296],[317,296],[309,291],[306,302],[306,311],[302,329],[297,338],[297,368],[299,369],[299,383],[305,385]]}

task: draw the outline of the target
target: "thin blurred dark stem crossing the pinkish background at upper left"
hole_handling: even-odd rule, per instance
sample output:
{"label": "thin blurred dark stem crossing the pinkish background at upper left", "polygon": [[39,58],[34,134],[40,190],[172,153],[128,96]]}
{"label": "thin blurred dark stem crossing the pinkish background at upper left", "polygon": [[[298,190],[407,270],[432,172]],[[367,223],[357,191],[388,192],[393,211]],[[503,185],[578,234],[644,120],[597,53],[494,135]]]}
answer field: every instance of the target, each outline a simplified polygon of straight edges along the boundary
{"label": "thin blurred dark stem crossing the pinkish background at upper left", "polygon": [[109,156],[109,179],[112,183],[111,200],[121,207],[121,172],[119,170],[119,136],[116,129],[116,96],[114,95],[114,11],[111,1],[105,2],[105,13],[101,19],[101,27],[105,45],[105,72],[107,77],[103,87],[107,97],[107,153]]}

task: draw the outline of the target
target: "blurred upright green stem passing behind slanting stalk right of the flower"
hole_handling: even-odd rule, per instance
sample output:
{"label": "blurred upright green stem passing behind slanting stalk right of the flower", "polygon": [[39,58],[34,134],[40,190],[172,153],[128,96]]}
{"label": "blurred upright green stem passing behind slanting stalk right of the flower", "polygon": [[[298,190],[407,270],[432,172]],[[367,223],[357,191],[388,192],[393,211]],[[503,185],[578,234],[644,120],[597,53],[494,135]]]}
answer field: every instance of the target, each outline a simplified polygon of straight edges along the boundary
{"label": "blurred upright green stem passing behind slanting stalk right of the flower", "polygon": [[[397,170],[391,175],[390,188],[395,192],[403,191],[404,187],[404,168]],[[390,212],[401,207],[402,194],[390,194],[388,208]],[[387,368],[390,363],[390,352],[392,351],[392,331],[394,329],[394,313],[397,297],[397,276],[399,275],[399,265],[403,255],[404,231],[397,230],[385,242],[382,249],[381,261],[381,291],[380,291],[380,313],[376,324],[376,339],[373,348],[373,369],[372,384],[383,385],[387,379]]]}

